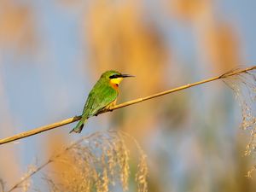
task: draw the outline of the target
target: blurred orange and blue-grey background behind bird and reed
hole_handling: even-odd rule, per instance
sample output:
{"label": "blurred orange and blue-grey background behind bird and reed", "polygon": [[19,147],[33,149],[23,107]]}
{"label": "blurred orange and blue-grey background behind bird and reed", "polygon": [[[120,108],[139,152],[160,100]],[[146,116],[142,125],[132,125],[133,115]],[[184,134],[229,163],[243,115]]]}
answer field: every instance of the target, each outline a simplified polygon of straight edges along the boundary
{"label": "blurred orange and blue-grey background behind bird and reed", "polygon": [[[0,0],[0,137],[79,115],[109,69],[136,75],[120,103],[255,65],[255,9],[253,0]],[[204,84],[91,118],[80,135],[68,134],[72,124],[5,144],[0,178],[8,188],[61,146],[121,129],[148,155],[150,192],[255,191],[240,123],[232,91]]]}

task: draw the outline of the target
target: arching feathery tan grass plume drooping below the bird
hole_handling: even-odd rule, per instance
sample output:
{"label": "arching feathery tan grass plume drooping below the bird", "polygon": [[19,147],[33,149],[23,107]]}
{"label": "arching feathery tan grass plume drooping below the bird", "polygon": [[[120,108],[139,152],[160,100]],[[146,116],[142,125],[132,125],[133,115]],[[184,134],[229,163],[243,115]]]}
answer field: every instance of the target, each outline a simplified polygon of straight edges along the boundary
{"label": "arching feathery tan grass plume drooping below the bird", "polygon": [[[137,191],[148,191],[148,166],[146,155],[137,141],[123,131],[100,131],[89,137],[83,137],[76,143],[52,156],[42,166],[33,169],[26,179],[15,184],[17,187],[30,186],[24,184],[33,174],[43,170],[52,163],[68,166],[65,172],[48,173],[44,177],[50,191],[97,191],[107,192],[119,183],[120,187],[128,190],[130,177],[130,151],[125,140],[135,144],[138,152]],[[54,174],[61,177],[55,179]],[[58,178],[56,177],[56,178]],[[14,188],[10,189],[12,191]]]}

